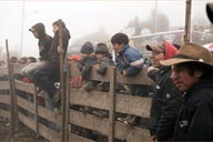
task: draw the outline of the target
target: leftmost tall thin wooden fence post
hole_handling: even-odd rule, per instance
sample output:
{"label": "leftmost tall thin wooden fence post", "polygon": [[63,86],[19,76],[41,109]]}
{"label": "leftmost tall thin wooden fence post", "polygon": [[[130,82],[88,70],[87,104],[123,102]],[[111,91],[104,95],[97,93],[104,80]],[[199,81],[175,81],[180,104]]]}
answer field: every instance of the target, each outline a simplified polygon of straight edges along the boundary
{"label": "leftmost tall thin wooden fence post", "polygon": [[14,133],[18,131],[18,109],[17,109],[16,90],[14,90],[13,67],[10,63],[8,40],[6,40],[6,51],[7,51],[8,74],[10,84],[10,134],[11,138],[13,138]]}

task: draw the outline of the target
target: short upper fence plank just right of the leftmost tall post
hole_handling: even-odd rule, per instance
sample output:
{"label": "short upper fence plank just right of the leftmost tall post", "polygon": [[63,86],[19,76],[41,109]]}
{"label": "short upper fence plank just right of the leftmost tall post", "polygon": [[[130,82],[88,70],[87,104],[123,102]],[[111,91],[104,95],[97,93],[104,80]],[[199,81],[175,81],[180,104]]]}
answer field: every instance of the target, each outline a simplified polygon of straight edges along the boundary
{"label": "short upper fence plank just right of the leftmost tall post", "polygon": [[33,83],[24,83],[23,81],[14,80],[16,89],[34,94],[36,87]]}

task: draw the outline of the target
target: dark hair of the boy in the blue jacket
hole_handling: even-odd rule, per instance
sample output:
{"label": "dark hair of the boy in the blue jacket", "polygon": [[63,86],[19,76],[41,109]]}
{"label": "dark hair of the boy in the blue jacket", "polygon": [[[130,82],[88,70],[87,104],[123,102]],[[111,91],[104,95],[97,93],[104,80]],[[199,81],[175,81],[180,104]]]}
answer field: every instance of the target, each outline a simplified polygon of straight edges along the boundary
{"label": "dark hair of the boy in the blue jacket", "polygon": [[129,44],[129,38],[124,33],[116,33],[111,38],[111,43],[119,43],[119,44],[124,43],[125,45]]}

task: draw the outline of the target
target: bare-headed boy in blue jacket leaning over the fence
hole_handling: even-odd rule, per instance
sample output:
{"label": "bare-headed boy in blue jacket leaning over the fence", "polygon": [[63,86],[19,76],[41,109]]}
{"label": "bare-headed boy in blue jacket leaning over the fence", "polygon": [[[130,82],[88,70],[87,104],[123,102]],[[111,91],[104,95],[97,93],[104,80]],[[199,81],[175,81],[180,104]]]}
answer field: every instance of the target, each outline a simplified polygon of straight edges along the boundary
{"label": "bare-headed boy in blue jacket leaning over the fence", "polygon": [[[134,77],[139,74],[143,68],[143,57],[133,47],[129,44],[129,38],[124,33],[115,33],[111,38],[111,43],[115,52],[115,63],[118,71],[123,77]],[[130,88],[131,95],[148,97],[146,92],[143,92],[144,87],[139,84],[128,84]],[[128,115],[126,118],[118,118],[126,124],[135,124],[138,118]]]}

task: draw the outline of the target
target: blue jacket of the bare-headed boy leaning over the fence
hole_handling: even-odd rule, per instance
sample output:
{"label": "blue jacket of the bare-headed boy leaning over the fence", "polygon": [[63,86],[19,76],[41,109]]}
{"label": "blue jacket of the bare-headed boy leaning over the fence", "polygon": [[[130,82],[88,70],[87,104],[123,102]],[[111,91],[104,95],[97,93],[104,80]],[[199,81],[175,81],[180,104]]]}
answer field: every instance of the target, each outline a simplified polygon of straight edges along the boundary
{"label": "blue jacket of the bare-headed boy leaning over the fence", "polygon": [[140,60],[143,60],[142,54],[136,49],[126,44],[115,55],[116,69],[121,72],[121,74],[123,70],[126,70],[129,77],[136,75],[142,70],[143,64],[133,67],[131,63]]}

